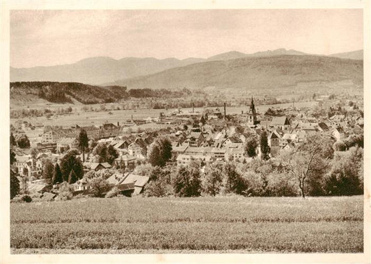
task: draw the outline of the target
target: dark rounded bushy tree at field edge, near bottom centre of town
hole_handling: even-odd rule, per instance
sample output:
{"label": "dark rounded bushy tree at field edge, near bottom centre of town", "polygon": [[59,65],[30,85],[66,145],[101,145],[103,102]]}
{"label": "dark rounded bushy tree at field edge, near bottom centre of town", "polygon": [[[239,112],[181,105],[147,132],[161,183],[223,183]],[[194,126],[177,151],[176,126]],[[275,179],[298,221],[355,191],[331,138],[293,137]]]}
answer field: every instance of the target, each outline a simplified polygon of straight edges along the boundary
{"label": "dark rounded bushy tree at field edge, near bottom centre of town", "polygon": [[200,195],[200,171],[196,167],[178,167],[171,179],[173,191],[179,197]]}

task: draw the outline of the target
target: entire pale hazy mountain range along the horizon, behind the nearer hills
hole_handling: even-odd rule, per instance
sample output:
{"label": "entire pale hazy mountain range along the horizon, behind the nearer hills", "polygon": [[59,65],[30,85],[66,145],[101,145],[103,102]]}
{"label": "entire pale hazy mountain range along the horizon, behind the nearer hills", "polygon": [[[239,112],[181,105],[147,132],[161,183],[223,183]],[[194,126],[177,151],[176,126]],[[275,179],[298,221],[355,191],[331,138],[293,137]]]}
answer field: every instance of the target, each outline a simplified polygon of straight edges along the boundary
{"label": "entire pale hazy mountain range along the horizon, behind the nearer hills", "polygon": [[[178,69],[182,67],[186,67],[185,69],[202,68],[205,71],[205,67],[214,67],[213,65],[233,65],[231,62],[228,63],[229,60],[237,60],[241,58],[265,58],[271,56],[308,56],[308,54],[293,49],[276,49],[274,51],[260,51],[250,54],[230,51],[210,58],[187,58],[184,60],[179,60],[177,58],[165,58],[161,60],[157,58],[122,58],[120,60],[115,60],[109,57],[94,57],[79,60],[77,63],[68,65],[31,68],[10,67],[10,81],[58,81],[94,85],[101,85],[104,83],[121,85],[125,83],[124,85],[128,85],[128,88],[130,88],[130,85],[134,85],[137,88],[138,85],[141,84],[147,85],[148,81],[143,80],[154,80],[155,77],[153,74],[164,76],[164,72],[168,72],[168,70],[171,69],[173,72],[179,73],[183,72],[182,69]],[[327,57],[362,60],[363,50],[337,53]],[[205,63],[205,65],[200,65],[203,63]],[[221,68],[218,69],[222,70]],[[188,73],[184,72],[184,74]],[[213,72],[213,70],[210,69],[210,74],[213,76],[216,72]],[[164,81],[150,81],[148,84],[157,83],[158,85],[164,85],[170,81],[169,78],[172,77],[164,76],[164,78]],[[166,81],[166,79],[168,81]],[[189,83],[192,83],[192,81],[189,80]],[[158,86],[157,84],[156,87]],[[173,84],[170,86],[173,86]]]}

